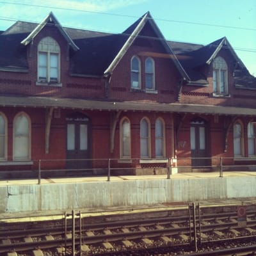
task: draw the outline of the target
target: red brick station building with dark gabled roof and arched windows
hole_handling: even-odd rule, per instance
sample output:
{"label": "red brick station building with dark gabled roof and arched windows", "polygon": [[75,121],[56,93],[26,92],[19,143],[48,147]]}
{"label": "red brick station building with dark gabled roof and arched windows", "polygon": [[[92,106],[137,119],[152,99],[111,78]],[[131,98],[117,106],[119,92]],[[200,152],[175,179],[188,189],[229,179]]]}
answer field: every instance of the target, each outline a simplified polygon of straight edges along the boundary
{"label": "red brick station building with dark gabled roof and arched windows", "polygon": [[169,42],[150,13],[118,35],[63,28],[53,13],[17,21],[0,34],[0,168],[255,163],[255,97],[227,38]]}

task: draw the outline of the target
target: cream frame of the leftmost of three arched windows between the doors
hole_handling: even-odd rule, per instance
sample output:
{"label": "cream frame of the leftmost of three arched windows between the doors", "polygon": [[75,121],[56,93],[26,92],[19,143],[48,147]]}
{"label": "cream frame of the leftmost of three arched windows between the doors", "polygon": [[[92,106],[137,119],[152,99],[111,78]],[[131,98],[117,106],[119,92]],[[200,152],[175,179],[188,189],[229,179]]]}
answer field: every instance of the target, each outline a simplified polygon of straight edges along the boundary
{"label": "cream frame of the leftmost of three arched windows between the doors", "polygon": [[[129,131],[124,131],[124,124],[129,125]],[[120,120],[120,158],[131,158],[131,122],[127,117],[122,118]],[[129,148],[128,154],[125,154],[124,145]]]}

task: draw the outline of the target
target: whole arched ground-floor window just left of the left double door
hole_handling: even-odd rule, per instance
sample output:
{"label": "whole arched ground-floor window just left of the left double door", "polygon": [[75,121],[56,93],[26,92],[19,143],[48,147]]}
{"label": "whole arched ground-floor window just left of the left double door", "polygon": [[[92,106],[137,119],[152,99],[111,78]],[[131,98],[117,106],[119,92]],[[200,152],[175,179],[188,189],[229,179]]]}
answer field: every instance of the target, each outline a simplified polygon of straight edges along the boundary
{"label": "whole arched ground-floor window just left of the left double door", "polygon": [[30,118],[26,113],[19,113],[13,120],[13,159],[30,159]]}

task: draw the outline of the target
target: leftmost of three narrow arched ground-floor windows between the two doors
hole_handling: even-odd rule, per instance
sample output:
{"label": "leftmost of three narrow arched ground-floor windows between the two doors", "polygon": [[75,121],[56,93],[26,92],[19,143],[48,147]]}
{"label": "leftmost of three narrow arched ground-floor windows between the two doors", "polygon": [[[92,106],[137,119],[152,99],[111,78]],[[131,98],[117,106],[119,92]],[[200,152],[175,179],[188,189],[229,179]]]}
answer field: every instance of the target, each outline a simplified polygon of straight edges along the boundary
{"label": "leftmost of three narrow arched ground-floor windows between the two doors", "polygon": [[120,121],[120,156],[131,158],[131,124],[128,118]]}

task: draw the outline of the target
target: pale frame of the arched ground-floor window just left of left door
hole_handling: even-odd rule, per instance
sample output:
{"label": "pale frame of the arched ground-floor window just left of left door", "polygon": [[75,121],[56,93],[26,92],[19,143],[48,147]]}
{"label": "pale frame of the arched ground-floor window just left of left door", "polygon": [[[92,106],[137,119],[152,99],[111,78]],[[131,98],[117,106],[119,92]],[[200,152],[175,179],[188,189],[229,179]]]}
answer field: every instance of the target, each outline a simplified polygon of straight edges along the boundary
{"label": "pale frame of the arched ground-floor window just left of left door", "polygon": [[[16,131],[17,131],[16,122],[20,116],[24,116],[25,118],[27,118],[27,121],[28,121],[28,131],[24,134],[16,134]],[[26,156],[22,156],[22,157],[18,157],[16,154],[17,140],[19,140],[20,138],[24,138],[25,140],[27,140],[27,144],[28,144],[28,147],[25,148],[27,154]],[[17,113],[17,115],[15,115],[13,119],[13,161],[25,161],[30,159],[31,159],[31,120],[26,113],[20,112],[20,113]]]}

